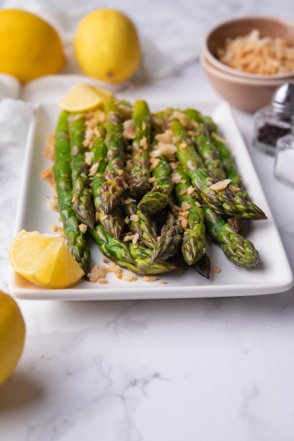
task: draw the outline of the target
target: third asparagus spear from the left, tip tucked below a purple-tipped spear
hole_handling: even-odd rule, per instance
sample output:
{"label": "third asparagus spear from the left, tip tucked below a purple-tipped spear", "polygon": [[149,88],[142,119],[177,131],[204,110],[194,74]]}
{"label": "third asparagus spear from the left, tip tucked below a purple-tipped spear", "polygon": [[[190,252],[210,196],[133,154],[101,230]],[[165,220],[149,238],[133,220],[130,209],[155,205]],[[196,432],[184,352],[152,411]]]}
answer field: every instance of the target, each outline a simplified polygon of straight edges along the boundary
{"label": "third asparagus spear from the left, tip tucked below a purple-tipped spear", "polygon": [[123,232],[124,228],[124,219],[122,210],[117,207],[112,213],[105,214],[101,208],[101,194],[102,194],[102,185],[105,181],[104,172],[106,169],[106,162],[104,159],[107,155],[107,147],[103,139],[98,138],[94,144],[92,149],[90,150],[93,154],[93,164],[97,164],[97,171],[93,176],[93,199],[96,211],[99,216],[99,220],[101,224],[104,225],[104,228],[112,234],[116,239],[119,239]]}

